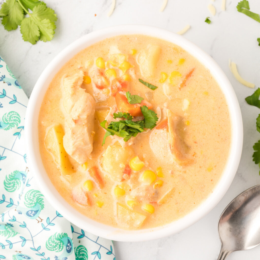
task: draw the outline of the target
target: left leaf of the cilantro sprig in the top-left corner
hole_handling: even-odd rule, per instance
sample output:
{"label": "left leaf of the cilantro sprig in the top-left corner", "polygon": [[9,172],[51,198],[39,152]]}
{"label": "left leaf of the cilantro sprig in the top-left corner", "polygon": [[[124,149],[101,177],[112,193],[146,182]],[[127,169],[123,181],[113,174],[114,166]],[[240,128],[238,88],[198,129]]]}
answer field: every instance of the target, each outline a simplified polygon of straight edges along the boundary
{"label": "left leaf of the cilantro sprig in the top-left corner", "polygon": [[24,18],[23,8],[16,0],[7,0],[0,10],[2,24],[7,31],[17,29]]}

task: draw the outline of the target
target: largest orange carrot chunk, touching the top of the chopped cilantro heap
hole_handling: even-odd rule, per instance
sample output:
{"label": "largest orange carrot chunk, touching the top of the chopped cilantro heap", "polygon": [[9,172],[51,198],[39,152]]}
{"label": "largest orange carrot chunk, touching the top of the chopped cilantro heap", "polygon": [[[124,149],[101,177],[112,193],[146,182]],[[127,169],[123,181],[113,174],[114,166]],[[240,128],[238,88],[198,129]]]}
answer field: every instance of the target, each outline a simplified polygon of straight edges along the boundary
{"label": "largest orange carrot chunk, touching the top of the chopped cilantro heap", "polygon": [[142,100],[141,103],[138,104],[129,104],[126,96],[117,93],[115,95],[115,102],[120,112],[130,113],[132,116],[141,116],[143,115],[141,112],[141,106],[147,106],[148,109],[151,109],[153,106],[146,100]]}

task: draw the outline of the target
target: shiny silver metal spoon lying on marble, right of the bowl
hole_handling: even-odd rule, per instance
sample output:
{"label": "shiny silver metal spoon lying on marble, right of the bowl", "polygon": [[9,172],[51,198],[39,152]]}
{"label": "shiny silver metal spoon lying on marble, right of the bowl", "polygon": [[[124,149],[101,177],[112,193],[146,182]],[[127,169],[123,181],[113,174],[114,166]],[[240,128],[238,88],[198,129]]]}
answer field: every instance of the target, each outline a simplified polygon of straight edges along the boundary
{"label": "shiny silver metal spoon lying on marble, right of the bowl", "polygon": [[222,242],[218,260],[231,252],[260,244],[260,185],[239,194],[220,216],[218,232]]}

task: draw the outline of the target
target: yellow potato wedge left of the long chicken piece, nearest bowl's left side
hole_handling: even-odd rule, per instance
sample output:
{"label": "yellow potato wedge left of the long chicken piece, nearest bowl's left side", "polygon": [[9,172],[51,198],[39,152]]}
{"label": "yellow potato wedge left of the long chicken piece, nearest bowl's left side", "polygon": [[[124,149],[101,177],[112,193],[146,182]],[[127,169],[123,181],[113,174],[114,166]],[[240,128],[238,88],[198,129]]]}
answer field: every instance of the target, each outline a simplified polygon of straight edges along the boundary
{"label": "yellow potato wedge left of the long chicken piece, nearest bowl's left side", "polygon": [[45,136],[44,144],[48,152],[54,157],[56,164],[61,170],[61,175],[68,175],[75,171],[63,147],[63,136],[64,131],[62,126],[55,125],[49,129]]}

